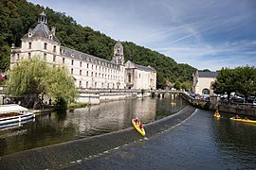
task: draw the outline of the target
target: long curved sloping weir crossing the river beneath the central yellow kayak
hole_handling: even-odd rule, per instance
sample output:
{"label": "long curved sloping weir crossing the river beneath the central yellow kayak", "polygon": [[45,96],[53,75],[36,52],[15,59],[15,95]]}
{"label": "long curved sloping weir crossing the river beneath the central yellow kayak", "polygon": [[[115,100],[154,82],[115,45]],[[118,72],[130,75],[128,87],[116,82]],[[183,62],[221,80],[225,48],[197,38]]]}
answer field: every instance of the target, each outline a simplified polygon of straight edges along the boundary
{"label": "long curved sloping weir crossing the river beneath the central yellow kayak", "polygon": [[[189,106],[171,116],[145,125],[146,137],[174,127],[190,117],[194,110],[195,108]],[[0,158],[0,164],[2,169],[60,169],[140,139],[142,136],[130,127],[91,138],[7,155]]]}

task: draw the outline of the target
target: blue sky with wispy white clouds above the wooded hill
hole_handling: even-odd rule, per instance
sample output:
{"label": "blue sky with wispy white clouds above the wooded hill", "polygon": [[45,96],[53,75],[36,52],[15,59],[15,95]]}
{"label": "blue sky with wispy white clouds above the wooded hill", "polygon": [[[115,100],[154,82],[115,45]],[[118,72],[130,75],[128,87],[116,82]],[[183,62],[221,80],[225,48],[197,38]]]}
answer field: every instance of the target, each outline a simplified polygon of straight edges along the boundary
{"label": "blue sky with wispy white clouds above the wooded hill", "polygon": [[28,2],[64,12],[81,26],[116,41],[135,42],[199,70],[256,66],[255,0]]}

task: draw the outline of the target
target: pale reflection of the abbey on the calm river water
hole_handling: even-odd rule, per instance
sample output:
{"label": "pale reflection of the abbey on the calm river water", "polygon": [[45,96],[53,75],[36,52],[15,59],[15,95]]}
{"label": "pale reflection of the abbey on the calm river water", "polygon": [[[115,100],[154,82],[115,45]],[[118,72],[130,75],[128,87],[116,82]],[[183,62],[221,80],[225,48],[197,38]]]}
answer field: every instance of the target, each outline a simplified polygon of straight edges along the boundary
{"label": "pale reflection of the abbey on the calm river water", "polygon": [[72,123],[82,136],[92,136],[131,127],[131,120],[136,116],[144,123],[153,122],[155,99],[128,99],[76,109],[67,114],[65,125]]}

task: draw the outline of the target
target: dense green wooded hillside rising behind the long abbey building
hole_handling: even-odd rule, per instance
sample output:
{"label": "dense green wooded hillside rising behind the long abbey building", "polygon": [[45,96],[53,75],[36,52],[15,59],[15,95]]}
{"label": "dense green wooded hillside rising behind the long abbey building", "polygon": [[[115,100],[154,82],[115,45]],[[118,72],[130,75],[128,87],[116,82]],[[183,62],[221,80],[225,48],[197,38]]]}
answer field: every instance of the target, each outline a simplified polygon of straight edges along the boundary
{"label": "dense green wooded hillside rising behind the long abbey building", "polygon": [[[21,38],[29,27],[36,26],[37,16],[45,10],[47,25],[56,27],[56,36],[62,45],[82,51],[101,59],[112,59],[115,40],[93,30],[89,26],[80,26],[65,13],[55,12],[51,8],[33,5],[26,0],[3,0],[0,2],[0,70],[9,68],[11,43],[21,45]],[[148,48],[138,46],[133,42],[122,42],[124,58],[140,65],[151,65],[157,72],[157,88],[165,86],[167,81],[192,81],[194,68],[188,64],[176,63]]]}

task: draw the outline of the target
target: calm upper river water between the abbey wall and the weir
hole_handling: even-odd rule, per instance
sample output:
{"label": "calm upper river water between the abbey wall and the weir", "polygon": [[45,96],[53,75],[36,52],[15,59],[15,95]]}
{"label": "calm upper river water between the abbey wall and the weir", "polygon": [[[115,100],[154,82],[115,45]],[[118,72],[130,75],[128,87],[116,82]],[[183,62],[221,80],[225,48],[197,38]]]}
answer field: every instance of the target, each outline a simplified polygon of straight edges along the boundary
{"label": "calm upper river water between the abbey wall and the weir", "polygon": [[147,124],[186,106],[179,97],[145,97],[101,103],[71,112],[51,112],[37,116],[35,122],[23,127],[0,131],[0,156],[118,131],[131,127],[131,120],[136,116]]}

